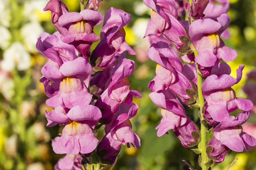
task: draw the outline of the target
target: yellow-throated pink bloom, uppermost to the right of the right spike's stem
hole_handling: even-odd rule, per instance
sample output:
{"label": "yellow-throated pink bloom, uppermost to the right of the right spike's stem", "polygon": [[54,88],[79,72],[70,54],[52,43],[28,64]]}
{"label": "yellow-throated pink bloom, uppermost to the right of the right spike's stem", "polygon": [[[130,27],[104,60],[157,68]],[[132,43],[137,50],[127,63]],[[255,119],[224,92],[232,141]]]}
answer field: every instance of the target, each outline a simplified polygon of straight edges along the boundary
{"label": "yellow-throated pink bloom, uppermost to the right of the right spike's stem", "polygon": [[198,56],[195,62],[204,67],[211,67],[220,59],[232,61],[237,57],[236,50],[227,47],[219,36],[230,23],[228,14],[217,19],[212,17],[195,20],[189,27],[189,36]]}

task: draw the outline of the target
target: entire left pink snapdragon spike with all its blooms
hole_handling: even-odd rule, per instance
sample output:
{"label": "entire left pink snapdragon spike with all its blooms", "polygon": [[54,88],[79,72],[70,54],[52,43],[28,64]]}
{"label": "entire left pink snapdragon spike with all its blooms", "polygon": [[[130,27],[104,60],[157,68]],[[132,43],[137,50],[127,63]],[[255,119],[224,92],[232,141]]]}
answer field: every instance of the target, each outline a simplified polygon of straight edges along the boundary
{"label": "entire left pink snapdragon spike with all its blooms", "polygon": [[[133,96],[141,94],[130,90],[128,77],[134,62],[124,58],[126,51],[136,54],[125,42],[123,28],[131,16],[110,8],[103,20],[101,13],[91,9],[69,12],[61,0],[50,0],[44,10],[51,11],[52,24],[58,30],[42,33],[36,45],[49,58],[41,69],[40,82],[49,97],[46,104],[55,109],[46,111],[45,116],[48,127],[64,126],[61,136],[52,140],[52,148],[55,153],[67,154],[55,168],[81,169],[81,156],[90,164],[113,164],[122,144],[140,147],[129,119],[138,110]],[[99,37],[93,28],[102,20]],[[92,43],[98,40],[90,53]],[[100,139],[95,134],[102,125],[105,136]],[[93,154],[97,154],[96,162],[90,159]]]}

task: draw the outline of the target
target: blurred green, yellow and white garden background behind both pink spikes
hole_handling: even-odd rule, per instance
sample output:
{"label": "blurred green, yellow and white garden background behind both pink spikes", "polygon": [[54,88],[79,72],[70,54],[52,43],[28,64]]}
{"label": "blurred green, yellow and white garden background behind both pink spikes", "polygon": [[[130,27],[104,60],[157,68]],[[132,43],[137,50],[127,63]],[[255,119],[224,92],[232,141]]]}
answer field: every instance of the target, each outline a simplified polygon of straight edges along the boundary
{"label": "blurred green, yellow and white garden background behind both pink spikes", "polygon": [[[43,31],[55,32],[50,11],[43,11],[47,2],[0,0],[0,170],[53,170],[58,159],[64,156],[52,151],[51,139],[61,133],[61,128],[46,127],[45,110],[51,108],[45,105],[47,96],[39,78],[47,57],[35,48],[37,37]],[[69,11],[80,11],[79,0],[64,0],[64,3]],[[136,150],[123,146],[112,169],[187,170],[183,159],[200,169],[198,155],[182,147],[171,130],[169,135],[157,137],[155,127],[162,116],[160,108],[148,97],[148,82],[155,76],[156,63],[148,59],[150,44],[147,37],[143,39],[151,9],[143,0],[103,0],[99,11],[104,14],[112,6],[132,16],[125,27],[126,42],[137,55],[127,56],[135,61],[135,71],[128,79],[131,89],[143,96],[134,99],[140,108],[131,120],[134,132],[140,136],[141,147]],[[236,77],[239,65],[246,66],[241,82],[233,88],[237,97],[251,99],[256,105],[256,1],[230,0],[228,14],[230,38],[224,42],[238,52],[238,57],[228,62],[231,75]],[[94,28],[97,35],[101,27]],[[198,121],[198,110],[188,108],[186,113]],[[256,137],[256,107],[243,128]],[[236,158],[230,170],[256,170],[256,147],[243,153],[230,151],[224,162],[215,164],[212,170],[227,170]]]}

